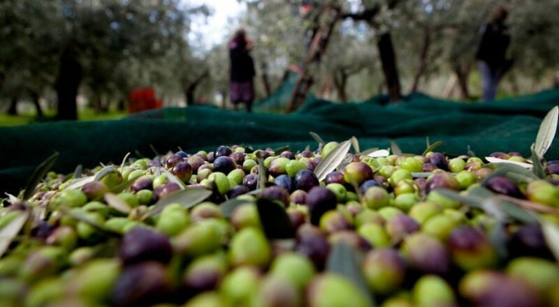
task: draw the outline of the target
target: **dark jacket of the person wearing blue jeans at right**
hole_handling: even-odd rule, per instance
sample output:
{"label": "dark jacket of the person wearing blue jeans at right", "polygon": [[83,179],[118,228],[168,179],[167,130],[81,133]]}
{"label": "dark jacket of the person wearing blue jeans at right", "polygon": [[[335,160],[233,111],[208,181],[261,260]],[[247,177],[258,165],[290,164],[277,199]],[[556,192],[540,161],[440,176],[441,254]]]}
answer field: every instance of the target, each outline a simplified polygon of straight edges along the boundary
{"label": "dark jacket of the person wearing blue jeans at right", "polygon": [[476,59],[485,61],[492,68],[506,65],[505,54],[511,41],[508,27],[505,24],[489,23],[481,29],[481,32],[481,43]]}

